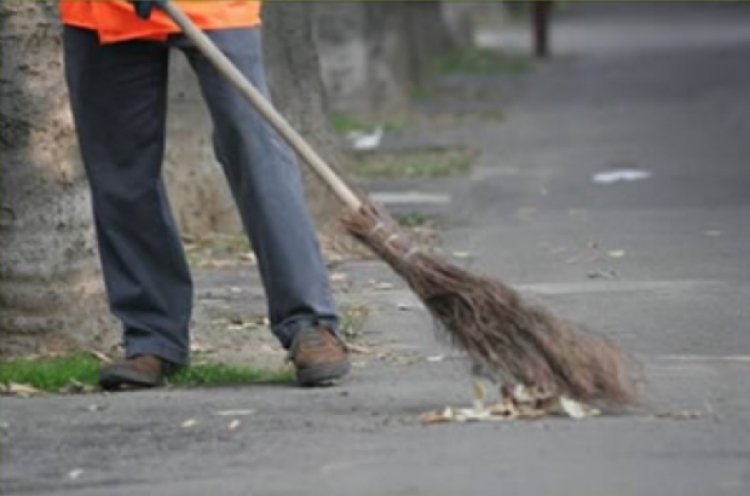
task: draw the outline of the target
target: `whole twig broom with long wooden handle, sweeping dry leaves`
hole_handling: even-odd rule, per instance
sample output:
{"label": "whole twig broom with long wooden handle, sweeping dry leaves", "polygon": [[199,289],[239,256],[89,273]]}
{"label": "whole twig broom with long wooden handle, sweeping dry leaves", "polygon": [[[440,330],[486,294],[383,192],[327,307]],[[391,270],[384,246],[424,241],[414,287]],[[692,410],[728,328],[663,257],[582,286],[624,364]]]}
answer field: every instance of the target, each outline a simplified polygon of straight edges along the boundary
{"label": "whole twig broom with long wooden handle, sweeping dry leaves", "polygon": [[629,360],[614,342],[524,301],[500,281],[418,249],[383,208],[362,201],[344,183],[179,7],[170,1],[159,5],[347,207],[342,223],[349,234],[404,279],[441,335],[468,355],[475,373],[544,396],[612,406],[637,403]]}

